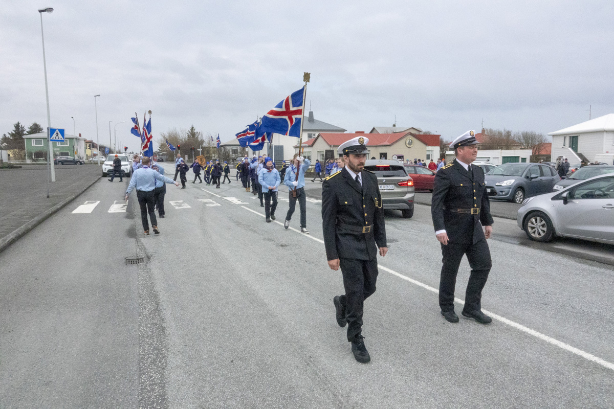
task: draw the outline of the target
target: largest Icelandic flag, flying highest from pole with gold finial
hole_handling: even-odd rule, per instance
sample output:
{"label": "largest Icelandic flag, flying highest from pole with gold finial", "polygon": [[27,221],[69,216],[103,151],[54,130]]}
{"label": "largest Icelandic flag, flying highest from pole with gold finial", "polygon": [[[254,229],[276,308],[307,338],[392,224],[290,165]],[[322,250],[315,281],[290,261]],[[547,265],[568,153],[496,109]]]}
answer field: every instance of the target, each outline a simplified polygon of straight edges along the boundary
{"label": "largest Icelandic flag, flying highest from pole with gold finial", "polygon": [[300,137],[303,120],[303,88],[293,92],[273,109],[265,113],[260,124],[261,132],[274,132]]}

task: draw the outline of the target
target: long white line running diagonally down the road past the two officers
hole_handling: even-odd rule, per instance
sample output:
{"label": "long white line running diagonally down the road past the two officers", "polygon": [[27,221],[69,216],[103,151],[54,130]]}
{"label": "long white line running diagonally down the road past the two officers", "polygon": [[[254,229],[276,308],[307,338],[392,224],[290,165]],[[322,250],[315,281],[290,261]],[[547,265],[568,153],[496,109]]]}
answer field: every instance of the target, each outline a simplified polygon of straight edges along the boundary
{"label": "long white line running diagonally down the road past the two officers", "polygon": [[[262,213],[258,213],[255,210],[252,210],[251,208],[248,208],[248,207],[245,207],[245,206],[241,206],[241,207],[243,207],[246,210],[249,210],[250,212],[256,213],[257,215],[266,217],[266,215],[263,215]],[[274,220],[274,222],[278,223],[278,224],[281,224],[282,226],[284,225],[284,223],[280,223],[277,220]],[[295,231],[295,232],[297,232],[297,233],[299,233],[299,234],[301,234],[301,235],[303,235],[305,237],[309,237],[309,239],[313,239],[313,240],[316,240],[316,242],[324,244],[323,240],[317,239],[316,237],[313,237],[313,235],[303,234],[300,231],[298,231],[297,229],[294,229],[293,227],[289,227],[289,230],[293,230],[293,231]],[[409,281],[410,283],[412,283],[414,285],[417,285],[419,287],[427,289],[428,291],[434,292],[435,294],[439,294],[439,291],[438,291],[437,288],[433,288],[433,287],[431,287],[429,285],[421,283],[418,280],[414,280],[413,278],[407,277],[406,275],[403,275],[401,273],[397,273],[394,270],[389,269],[388,267],[382,266],[381,264],[378,264],[378,268],[384,270],[385,272],[391,273],[392,275],[395,275],[398,278],[402,278],[403,280]],[[458,304],[465,305],[465,301],[461,300],[459,298],[454,297],[454,301],[457,302]],[[569,351],[570,353],[573,353],[573,354],[576,354],[578,356],[581,356],[581,357],[587,359],[588,361],[591,361],[591,362],[594,362],[596,364],[602,365],[603,367],[605,367],[607,369],[614,370],[614,364],[612,364],[612,362],[605,361],[604,359],[601,359],[600,357],[594,356],[593,354],[589,354],[588,352],[582,351],[582,350],[580,350],[578,348],[575,348],[574,346],[571,346],[569,344],[566,344],[564,342],[556,340],[556,339],[554,339],[552,337],[548,337],[548,335],[542,334],[541,332],[537,332],[534,329],[530,329],[529,327],[526,327],[526,326],[524,326],[522,324],[518,324],[515,321],[511,321],[511,319],[507,319],[507,318],[505,318],[503,316],[497,315],[497,314],[489,312],[487,310],[482,310],[482,311],[485,314],[490,315],[492,317],[492,319],[496,319],[497,321],[500,321],[503,324],[507,324],[508,326],[516,328],[519,331],[522,331],[522,332],[524,332],[526,334],[533,335],[534,337],[536,337],[536,338],[538,338],[538,339],[540,339],[542,341],[548,342],[548,343],[550,343],[551,345],[554,345],[554,346],[558,346],[562,350]]]}

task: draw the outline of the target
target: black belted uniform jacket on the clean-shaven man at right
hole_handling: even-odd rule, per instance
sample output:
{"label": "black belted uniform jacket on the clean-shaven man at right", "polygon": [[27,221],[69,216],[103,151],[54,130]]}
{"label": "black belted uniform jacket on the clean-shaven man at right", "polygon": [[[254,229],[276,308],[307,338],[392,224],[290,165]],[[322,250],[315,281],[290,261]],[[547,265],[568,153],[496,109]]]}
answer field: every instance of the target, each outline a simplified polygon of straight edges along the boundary
{"label": "black belted uniform jacket on the clean-shaven man at right", "polygon": [[[477,243],[484,239],[482,226],[492,225],[491,205],[486,193],[484,172],[471,166],[469,172],[454,159],[435,174],[430,212],[435,231],[444,230],[453,243]],[[456,213],[449,209],[479,208],[480,213]]]}

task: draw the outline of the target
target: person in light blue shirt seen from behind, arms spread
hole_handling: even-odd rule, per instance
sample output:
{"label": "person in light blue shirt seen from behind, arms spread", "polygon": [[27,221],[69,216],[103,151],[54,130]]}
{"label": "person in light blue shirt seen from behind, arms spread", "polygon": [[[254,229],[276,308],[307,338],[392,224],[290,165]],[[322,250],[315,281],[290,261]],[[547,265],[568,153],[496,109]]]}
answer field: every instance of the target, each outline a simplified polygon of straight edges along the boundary
{"label": "person in light blue shirt seen from behind, arms spread", "polygon": [[142,167],[136,169],[134,174],[130,178],[130,184],[126,189],[126,201],[133,189],[136,188],[136,198],[139,201],[139,207],[141,207],[141,223],[143,226],[143,234],[149,235],[149,223],[147,221],[147,215],[152,222],[153,232],[160,234],[158,229],[158,221],[155,218],[155,196],[153,190],[155,189],[155,181],[160,180],[164,183],[174,183],[175,186],[179,186],[179,182],[173,179],[165,177],[155,170],[149,167],[149,158],[142,159]]}

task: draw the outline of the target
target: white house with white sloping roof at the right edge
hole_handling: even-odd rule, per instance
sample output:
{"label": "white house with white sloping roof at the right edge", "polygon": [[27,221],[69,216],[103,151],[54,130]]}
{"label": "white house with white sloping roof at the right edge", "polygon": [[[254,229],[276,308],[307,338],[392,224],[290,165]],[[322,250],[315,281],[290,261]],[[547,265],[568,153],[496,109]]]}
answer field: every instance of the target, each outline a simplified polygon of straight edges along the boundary
{"label": "white house with white sloping roof at the right edge", "polygon": [[612,163],[614,158],[614,113],[548,135],[552,136],[553,160],[565,156],[570,162],[592,162],[609,157],[605,161]]}

